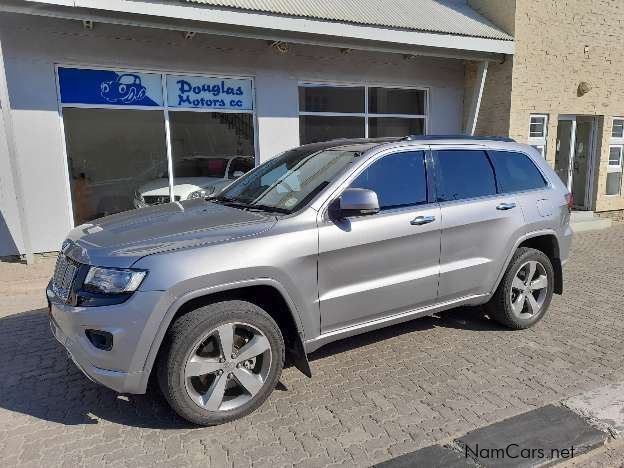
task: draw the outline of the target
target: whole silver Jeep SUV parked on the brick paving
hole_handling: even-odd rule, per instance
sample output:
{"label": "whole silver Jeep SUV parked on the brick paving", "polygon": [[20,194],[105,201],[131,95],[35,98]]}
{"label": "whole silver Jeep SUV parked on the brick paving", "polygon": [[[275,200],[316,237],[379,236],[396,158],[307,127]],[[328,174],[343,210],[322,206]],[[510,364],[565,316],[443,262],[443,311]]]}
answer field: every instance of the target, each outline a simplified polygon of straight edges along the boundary
{"label": "whole silver Jeep SUV parked on the brick paving", "polygon": [[70,232],[47,289],[92,380],[201,425],[240,418],[285,362],[457,306],[514,329],[563,289],[571,197],[504,138],[337,140],[271,159],[218,197]]}

